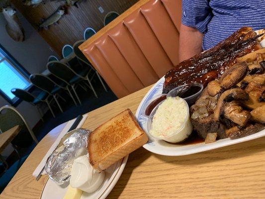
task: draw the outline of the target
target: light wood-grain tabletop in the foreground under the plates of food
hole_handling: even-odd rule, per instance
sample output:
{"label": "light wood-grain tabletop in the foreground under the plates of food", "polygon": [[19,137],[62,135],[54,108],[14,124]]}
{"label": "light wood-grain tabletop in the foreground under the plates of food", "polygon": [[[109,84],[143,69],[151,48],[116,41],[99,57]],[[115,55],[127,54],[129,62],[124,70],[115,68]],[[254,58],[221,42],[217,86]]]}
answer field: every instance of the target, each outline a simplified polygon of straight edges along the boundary
{"label": "light wood-grain tabletop in the foreground under the plates of food", "polygon": [[[134,113],[151,87],[88,113],[83,127],[94,129],[126,108]],[[47,176],[32,173],[58,136],[47,134],[35,147],[0,199],[39,199]],[[187,156],[161,156],[143,147],[129,155],[108,199],[265,198],[265,137]]]}

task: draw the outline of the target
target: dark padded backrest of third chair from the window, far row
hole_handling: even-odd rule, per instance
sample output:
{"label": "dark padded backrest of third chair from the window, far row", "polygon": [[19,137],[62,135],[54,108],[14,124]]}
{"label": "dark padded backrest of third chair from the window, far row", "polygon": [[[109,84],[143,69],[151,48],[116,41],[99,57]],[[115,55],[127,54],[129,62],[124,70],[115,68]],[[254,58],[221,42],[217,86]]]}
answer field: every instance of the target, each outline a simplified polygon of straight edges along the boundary
{"label": "dark padded backrest of third chair from the window, far row", "polygon": [[47,64],[47,69],[57,78],[69,84],[75,73],[66,65],[58,61],[52,61]]}

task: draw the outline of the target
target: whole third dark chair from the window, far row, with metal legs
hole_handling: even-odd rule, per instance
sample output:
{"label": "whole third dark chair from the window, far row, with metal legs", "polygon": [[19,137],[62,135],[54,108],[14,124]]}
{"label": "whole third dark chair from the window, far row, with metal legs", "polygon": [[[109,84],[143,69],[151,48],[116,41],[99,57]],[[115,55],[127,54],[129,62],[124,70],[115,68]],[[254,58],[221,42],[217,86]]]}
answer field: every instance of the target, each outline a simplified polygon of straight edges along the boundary
{"label": "whole third dark chair from the window, far row, with metal legs", "polygon": [[70,88],[73,89],[76,98],[78,99],[79,103],[81,104],[81,100],[79,99],[77,92],[75,90],[75,86],[78,82],[84,80],[84,78],[77,74],[73,69],[68,67],[66,64],[63,64],[58,61],[52,61],[47,64],[47,69],[57,78],[64,81],[66,83],[66,89],[69,92],[71,98],[74,100],[75,104],[77,105],[76,100],[74,99]]}

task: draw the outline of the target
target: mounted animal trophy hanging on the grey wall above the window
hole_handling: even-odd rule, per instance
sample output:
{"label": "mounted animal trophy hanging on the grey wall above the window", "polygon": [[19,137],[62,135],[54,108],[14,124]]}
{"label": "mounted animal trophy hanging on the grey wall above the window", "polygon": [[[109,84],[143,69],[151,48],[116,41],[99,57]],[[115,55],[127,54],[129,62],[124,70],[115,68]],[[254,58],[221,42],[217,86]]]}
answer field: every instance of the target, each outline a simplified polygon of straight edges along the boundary
{"label": "mounted animal trophy hanging on the grey wall above the window", "polygon": [[2,8],[3,16],[7,21],[5,30],[13,40],[24,41],[24,29],[22,28],[15,12],[16,10],[11,6]]}

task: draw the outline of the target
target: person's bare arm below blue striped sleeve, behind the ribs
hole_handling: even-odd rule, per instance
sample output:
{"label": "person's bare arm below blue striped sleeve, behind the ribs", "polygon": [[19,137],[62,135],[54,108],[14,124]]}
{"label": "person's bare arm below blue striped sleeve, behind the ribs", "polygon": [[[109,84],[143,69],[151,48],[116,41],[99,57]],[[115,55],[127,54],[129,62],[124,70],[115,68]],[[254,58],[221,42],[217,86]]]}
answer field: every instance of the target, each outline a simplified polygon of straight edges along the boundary
{"label": "person's bare arm below blue striped sleeve, behind the ribs", "polygon": [[196,28],[181,23],[179,32],[179,62],[202,52],[203,34]]}

